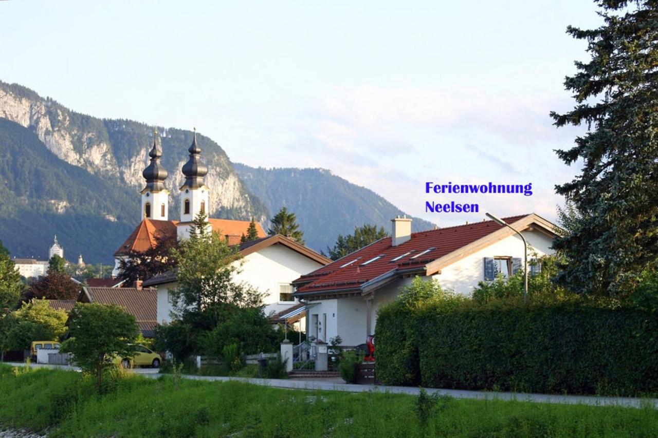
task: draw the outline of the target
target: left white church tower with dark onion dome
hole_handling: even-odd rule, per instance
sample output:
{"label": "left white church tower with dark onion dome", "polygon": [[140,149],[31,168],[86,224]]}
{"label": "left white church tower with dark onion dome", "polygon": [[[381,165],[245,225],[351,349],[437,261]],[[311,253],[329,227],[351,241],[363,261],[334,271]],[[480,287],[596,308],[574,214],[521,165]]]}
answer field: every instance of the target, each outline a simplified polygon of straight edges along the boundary
{"label": "left white church tower with dark onion dome", "polygon": [[164,188],[167,172],[160,163],[163,156],[157,132],[153,132],[153,149],[149,152],[151,163],[141,172],[146,187],[141,191],[141,219],[168,220],[169,191]]}

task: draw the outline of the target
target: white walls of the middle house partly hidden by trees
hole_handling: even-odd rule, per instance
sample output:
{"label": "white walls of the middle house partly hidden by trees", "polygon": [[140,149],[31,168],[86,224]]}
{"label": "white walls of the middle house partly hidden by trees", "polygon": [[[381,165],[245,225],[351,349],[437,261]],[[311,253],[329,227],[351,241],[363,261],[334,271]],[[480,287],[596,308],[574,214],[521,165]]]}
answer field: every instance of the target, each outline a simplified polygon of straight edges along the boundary
{"label": "white walls of the middle house partly hidden by trees", "polygon": [[[284,245],[276,244],[245,256],[242,260],[240,272],[234,280],[255,287],[265,293],[263,302],[265,314],[281,312],[293,306],[296,302],[279,301],[279,285],[289,285],[303,274],[324,266],[311,260]],[[239,263],[236,262],[236,263]],[[172,306],[168,303],[168,291],[174,289],[178,283],[157,285],[158,290],[158,322],[170,322]]]}

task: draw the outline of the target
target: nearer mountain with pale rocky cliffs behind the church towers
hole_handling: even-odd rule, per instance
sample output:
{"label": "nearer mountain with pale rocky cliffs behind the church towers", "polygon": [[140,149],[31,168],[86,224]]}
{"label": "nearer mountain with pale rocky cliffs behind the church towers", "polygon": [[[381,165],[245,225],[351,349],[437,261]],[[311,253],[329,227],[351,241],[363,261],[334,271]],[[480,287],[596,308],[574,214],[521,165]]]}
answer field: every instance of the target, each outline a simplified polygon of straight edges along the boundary
{"label": "nearer mountain with pale rocky cliffs behind the church towers", "polygon": [[[169,217],[178,218],[191,131],[95,118],[4,82],[0,121],[0,239],[12,255],[46,258],[57,233],[68,260],[82,253],[86,262],[113,262],[114,250],[141,219],[141,172],[154,130],[169,172]],[[224,150],[204,135],[197,134],[197,143],[209,166],[211,216],[265,222],[266,208],[247,192]]]}

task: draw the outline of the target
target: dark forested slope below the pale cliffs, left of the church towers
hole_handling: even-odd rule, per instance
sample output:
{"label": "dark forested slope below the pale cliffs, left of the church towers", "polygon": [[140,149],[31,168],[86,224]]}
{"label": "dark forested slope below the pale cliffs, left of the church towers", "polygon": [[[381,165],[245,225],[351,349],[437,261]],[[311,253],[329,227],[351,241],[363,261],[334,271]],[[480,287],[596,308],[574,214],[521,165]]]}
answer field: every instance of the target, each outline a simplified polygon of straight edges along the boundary
{"label": "dark forested slope below the pale cliffs, left of the church towers", "polygon": [[4,245],[41,260],[57,233],[68,260],[82,254],[87,262],[111,262],[139,209],[134,191],[57,158],[34,132],[2,118],[0,199]]}

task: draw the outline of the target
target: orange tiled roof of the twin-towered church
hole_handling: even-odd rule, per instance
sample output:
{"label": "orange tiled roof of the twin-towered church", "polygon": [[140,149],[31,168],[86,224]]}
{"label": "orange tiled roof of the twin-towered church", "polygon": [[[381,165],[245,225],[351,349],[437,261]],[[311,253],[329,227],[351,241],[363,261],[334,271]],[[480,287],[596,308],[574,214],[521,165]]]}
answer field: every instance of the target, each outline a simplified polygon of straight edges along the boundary
{"label": "orange tiled roof of the twin-towered church", "polygon": [[[213,231],[226,236],[229,245],[238,245],[243,234],[247,234],[249,229],[249,220],[231,220],[209,218]],[[155,248],[157,237],[164,235],[176,235],[178,220],[153,220],[143,219],[139,225],[132,231],[128,239],[114,252],[115,256],[128,255],[131,251],[143,253],[148,249]],[[266,237],[263,226],[256,222],[258,237]]]}

